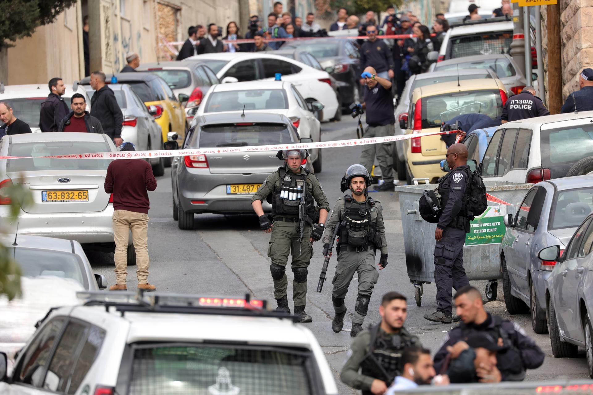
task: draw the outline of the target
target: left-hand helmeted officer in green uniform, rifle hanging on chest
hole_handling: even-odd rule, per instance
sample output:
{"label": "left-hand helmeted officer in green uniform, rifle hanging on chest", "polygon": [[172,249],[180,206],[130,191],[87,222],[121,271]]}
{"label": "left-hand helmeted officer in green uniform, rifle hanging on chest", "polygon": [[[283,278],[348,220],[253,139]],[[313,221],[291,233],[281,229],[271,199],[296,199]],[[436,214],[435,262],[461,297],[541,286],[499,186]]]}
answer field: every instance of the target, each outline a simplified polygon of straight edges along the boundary
{"label": "left-hand helmeted officer in green uniform, rifle hanging on chest", "polygon": [[[260,219],[260,227],[272,233],[267,256],[272,258],[270,272],[274,281],[274,298],[278,302],[277,311],[290,313],[286,297],[286,262],[292,256],[292,301],[295,314],[300,322],[313,319],[305,313],[307,304],[307,266],[313,256],[313,242],[321,239],[323,226],[329,212],[326,194],[317,177],[301,167],[302,159],[307,158],[307,150],[287,149],[278,153],[284,165],[270,174],[251,198],[251,205]],[[306,191],[306,192],[305,192]],[[304,193],[306,213],[299,217],[299,204]],[[262,201],[272,203],[272,219],[263,213]],[[317,207],[318,205],[318,219]],[[301,221],[304,221],[304,237],[299,237]]]}

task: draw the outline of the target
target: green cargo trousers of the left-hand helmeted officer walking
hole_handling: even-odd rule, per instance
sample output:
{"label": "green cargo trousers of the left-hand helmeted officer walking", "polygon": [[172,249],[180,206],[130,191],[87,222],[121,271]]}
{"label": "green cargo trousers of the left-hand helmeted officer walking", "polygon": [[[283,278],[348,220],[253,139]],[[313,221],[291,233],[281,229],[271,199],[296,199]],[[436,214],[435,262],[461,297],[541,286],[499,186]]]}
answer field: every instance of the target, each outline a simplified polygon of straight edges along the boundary
{"label": "green cargo trousers of the left-hand helmeted officer walking", "polygon": [[[299,223],[274,221],[272,237],[267,250],[267,256],[272,259],[270,271],[274,280],[274,298],[279,299],[286,295],[288,280],[286,279],[286,263],[288,255],[291,254],[291,268],[294,273],[292,281],[292,301],[294,306],[307,305],[307,266],[313,257],[313,243],[309,241],[311,231],[309,225],[305,225],[304,237],[299,243]],[[299,254],[299,249],[301,253]]]}

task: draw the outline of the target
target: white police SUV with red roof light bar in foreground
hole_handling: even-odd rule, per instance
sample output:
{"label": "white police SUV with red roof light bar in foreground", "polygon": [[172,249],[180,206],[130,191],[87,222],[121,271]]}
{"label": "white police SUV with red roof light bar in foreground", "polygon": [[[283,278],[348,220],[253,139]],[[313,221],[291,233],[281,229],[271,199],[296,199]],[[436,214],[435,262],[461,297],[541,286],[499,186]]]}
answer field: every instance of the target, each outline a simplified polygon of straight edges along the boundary
{"label": "white police SUV with red roof light bar in foreground", "polygon": [[53,310],[7,377],[11,394],[337,394],[320,345],[262,300],[78,293]]}

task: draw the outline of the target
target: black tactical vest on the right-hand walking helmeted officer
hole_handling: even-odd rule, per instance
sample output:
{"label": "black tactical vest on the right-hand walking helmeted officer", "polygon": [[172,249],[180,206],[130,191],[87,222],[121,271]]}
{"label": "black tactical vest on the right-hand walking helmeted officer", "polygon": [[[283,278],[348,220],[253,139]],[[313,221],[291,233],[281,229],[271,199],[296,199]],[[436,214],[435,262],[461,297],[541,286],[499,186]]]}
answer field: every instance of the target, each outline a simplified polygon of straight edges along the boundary
{"label": "black tactical vest on the right-hand walking helmeted officer", "polygon": [[340,229],[340,246],[366,247],[374,249],[382,247],[381,236],[377,232],[377,217],[371,217],[371,208],[375,201],[371,197],[365,203],[358,203],[352,196],[345,195],[344,209],[340,221],[346,217],[346,226]]}

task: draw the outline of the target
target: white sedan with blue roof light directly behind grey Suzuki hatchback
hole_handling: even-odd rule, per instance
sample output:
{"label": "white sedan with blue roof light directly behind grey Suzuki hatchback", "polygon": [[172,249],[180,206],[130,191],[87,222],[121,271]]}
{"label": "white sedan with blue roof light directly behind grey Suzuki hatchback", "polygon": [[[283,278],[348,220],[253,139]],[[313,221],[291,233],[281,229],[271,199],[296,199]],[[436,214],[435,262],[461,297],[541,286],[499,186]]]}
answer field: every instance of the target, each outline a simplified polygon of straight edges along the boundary
{"label": "white sedan with blue roof light directly behind grey Suzuki hatchback", "polygon": [[[308,103],[295,86],[286,81],[253,81],[213,85],[202,99],[192,126],[200,115],[245,110],[246,113],[272,113],[286,115],[297,128],[299,137],[321,141],[320,123],[313,115],[322,110],[319,102]],[[310,150],[315,173],[321,172],[321,150]]]}

